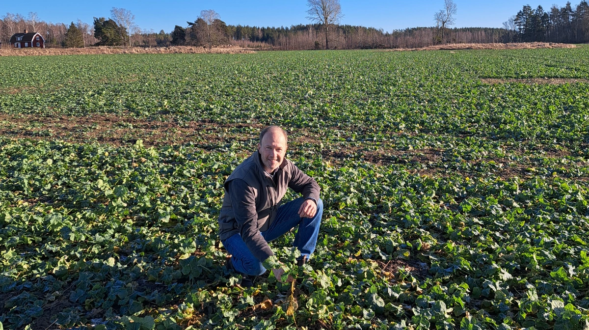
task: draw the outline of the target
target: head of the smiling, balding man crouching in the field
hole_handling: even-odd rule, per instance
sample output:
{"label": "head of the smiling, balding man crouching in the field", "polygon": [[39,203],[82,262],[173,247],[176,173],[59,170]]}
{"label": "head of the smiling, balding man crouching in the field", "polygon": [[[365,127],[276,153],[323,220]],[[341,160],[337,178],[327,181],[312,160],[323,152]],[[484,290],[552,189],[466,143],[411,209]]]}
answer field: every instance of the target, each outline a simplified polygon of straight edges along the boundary
{"label": "head of the smiling, balding man crouching in the field", "polygon": [[269,126],[260,132],[258,151],[264,170],[268,173],[272,173],[282,164],[286,154],[286,143],[286,131],[278,126]]}

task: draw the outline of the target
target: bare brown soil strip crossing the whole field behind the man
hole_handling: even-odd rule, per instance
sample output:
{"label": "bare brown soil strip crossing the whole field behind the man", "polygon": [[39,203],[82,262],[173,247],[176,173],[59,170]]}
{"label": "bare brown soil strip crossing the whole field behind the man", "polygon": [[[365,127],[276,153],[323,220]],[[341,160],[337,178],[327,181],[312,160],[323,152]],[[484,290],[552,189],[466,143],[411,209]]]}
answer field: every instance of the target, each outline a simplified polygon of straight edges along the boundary
{"label": "bare brown soil strip crossing the whole field behind the man", "polygon": [[[146,120],[125,114],[95,114],[85,117],[0,114],[0,136],[13,139],[63,140],[70,143],[102,143],[112,146],[128,146],[141,139],[146,147],[193,143],[194,146],[203,150],[223,149],[239,142],[244,147],[244,154],[249,153],[249,149],[255,149],[258,134],[262,128],[263,125],[260,123],[178,122],[175,118],[166,116],[161,117],[160,120]],[[402,133],[391,132],[390,134]],[[315,133],[305,128],[290,133],[289,136],[289,147],[293,150],[316,150],[322,142],[325,143],[316,138]],[[440,164],[446,163],[449,161],[448,157],[451,157],[445,150],[431,148],[399,150],[394,145],[388,144],[374,148],[371,144],[370,141],[352,143],[332,141],[329,146],[319,152],[323,159],[333,164],[345,163],[348,160],[363,160],[375,165],[416,166],[416,174],[432,177],[445,177],[452,173],[440,167]],[[525,152],[509,150],[508,153],[522,156]],[[571,156],[571,153],[566,150],[542,150],[538,151],[538,157],[540,156],[562,159]],[[491,155],[485,159],[468,162],[477,167],[481,165],[481,161],[493,161],[499,166],[495,174],[504,179],[514,176],[530,177],[534,175],[529,171],[529,168],[533,167],[531,162],[537,157],[530,154],[526,154],[525,157],[529,159],[525,163],[514,163],[508,157],[498,158]],[[465,176],[468,175],[465,173]]]}

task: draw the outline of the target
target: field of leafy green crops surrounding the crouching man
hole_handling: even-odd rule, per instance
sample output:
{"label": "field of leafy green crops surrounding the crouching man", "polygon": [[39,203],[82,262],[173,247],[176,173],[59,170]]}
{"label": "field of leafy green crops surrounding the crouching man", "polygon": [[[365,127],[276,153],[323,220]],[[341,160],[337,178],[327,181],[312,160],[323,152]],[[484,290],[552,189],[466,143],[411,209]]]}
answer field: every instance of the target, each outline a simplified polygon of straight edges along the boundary
{"label": "field of leafy green crops surrounding the crouching man", "polygon": [[[325,204],[294,316],[216,235],[270,124]],[[589,47],[2,57],[0,322],[588,329],[588,134]]]}

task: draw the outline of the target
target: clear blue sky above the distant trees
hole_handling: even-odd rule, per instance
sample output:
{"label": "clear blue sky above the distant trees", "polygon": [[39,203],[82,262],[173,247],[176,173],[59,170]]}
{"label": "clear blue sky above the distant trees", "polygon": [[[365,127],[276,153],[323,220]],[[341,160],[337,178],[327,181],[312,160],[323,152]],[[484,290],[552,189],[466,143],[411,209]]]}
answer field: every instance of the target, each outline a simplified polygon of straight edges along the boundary
{"label": "clear blue sky above the distant trees", "polygon": [[[108,17],[110,9],[125,8],[135,14],[135,22],[142,29],[164,29],[170,32],[174,25],[186,26],[186,21],[194,21],[201,9],[214,9],[227,24],[256,25],[263,27],[289,27],[293,24],[306,24],[306,0],[296,1],[237,1],[237,0],[122,0],[122,1],[2,1],[0,16],[5,12],[27,16],[34,8],[39,18],[50,22],[69,23],[78,18],[91,23],[92,17]],[[571,1],[577,5],[579,1]],[[385,31],[408,27],[429,27],[434,24],[434,12],[442,8],[444,0],[340,0],[345,17],[342,24],[363,25],[382,28]],[[566,1],[498,0],[470,1],[455,0],[458,6],[456,27],[501,27],[502,22],[517,12],[525,4],[532,8],[542,5],[545,11],[552,4],[563,6]]]}

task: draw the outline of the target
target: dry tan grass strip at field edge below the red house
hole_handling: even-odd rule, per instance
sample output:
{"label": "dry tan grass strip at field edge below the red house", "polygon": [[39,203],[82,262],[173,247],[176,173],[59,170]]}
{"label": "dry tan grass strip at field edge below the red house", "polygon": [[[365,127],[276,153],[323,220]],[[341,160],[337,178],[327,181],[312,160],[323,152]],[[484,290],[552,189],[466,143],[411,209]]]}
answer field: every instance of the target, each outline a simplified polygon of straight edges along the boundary
{"label": "dry tan grass strip at field edge below the red house", "polygon": [[174,47],[87,47],[87,48],[4,48],[0,56],[27,55],[92,55],[92,54],[251,54],[252,49],[227,45],[214,48],[196,46]]}

